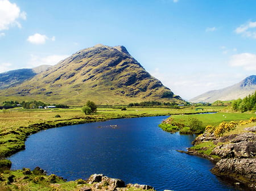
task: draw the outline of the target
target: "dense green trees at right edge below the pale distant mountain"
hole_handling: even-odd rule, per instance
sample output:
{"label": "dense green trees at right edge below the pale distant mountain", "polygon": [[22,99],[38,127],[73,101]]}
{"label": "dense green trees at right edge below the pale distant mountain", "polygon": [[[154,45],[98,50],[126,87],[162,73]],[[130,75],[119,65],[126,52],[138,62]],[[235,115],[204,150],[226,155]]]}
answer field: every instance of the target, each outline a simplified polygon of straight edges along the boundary
{"label": "dense green trees at right edge below the pale distant mountain", "polygon": [[243,99],[237,99],[232,102],[234,111],[247,112],[256,111],[256,91],[254,94],[246,96]]}

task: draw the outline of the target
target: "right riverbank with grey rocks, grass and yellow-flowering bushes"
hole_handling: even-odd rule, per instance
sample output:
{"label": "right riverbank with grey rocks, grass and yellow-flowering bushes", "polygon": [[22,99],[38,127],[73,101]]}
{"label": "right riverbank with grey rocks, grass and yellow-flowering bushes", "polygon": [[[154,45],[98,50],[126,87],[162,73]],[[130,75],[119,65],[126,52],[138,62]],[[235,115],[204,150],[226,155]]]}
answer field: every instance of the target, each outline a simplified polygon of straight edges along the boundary
{"label": "right riverbank with grey rocks, grass and yellow-flowering bushes", "polygon": [[256,190],[256,118],[208,126],[187,154],[216,163],[211,172],[232,179],[236,185]]}

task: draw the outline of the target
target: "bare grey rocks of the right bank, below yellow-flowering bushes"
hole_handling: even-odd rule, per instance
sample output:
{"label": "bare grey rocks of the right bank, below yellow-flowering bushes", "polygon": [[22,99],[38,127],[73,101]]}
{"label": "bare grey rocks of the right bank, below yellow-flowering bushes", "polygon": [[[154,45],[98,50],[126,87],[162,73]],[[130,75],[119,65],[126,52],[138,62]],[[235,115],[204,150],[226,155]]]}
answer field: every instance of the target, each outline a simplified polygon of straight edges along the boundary
{"label": "bare grey rocks of the right bank, below yellow-flowering bushes", "polygon": [[193,141],[193,145],[198,145],[206,141],[212,141],[215,147],[210,155],[201,154],[201,150],[188,148],[187,153],[203,156],[212,160],[211,156],[217,155],[219,158],[213,160],[217,162],[211,169],[217,176],[224,176],[240,181],[256,190],[256,126],[245,128],[249,132],[214,137],[213,133],[205,132]]}

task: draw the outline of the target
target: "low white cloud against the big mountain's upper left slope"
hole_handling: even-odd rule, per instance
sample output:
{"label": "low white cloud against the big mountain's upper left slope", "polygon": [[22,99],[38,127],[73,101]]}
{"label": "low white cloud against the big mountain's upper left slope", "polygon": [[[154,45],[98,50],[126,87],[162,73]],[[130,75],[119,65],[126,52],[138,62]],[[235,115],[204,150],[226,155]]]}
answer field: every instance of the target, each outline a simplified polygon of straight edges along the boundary
{"label": "low white cloud against the big mountain's upper left slope", "polygon": [[58,63],[59,61],[67,57],[68,55],[57,55],[57,54],[49,55],[46,57],[40,57],[40,56],[31,54],[31,58],[30,58],[30,61],[28,62],[27,67],[31,68],[31,67],[36,67],[40,65],[55,65],[56,63]]}

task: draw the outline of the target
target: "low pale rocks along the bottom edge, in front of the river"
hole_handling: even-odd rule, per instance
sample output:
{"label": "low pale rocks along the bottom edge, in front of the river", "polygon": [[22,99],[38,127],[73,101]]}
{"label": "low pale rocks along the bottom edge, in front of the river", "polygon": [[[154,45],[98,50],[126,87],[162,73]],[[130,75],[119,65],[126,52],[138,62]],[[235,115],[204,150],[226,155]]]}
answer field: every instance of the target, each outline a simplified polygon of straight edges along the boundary
{"label": "low pale rocks along the bottom edge, in front of the river", "polygon": [[[87,180],[88,184],[91,184],[92,190],[127,190],[131,187],[139,188],[143,190],[155,190],[154,187],[149,185],[140,185],[140,184],[127,184],[121,179],[113,179],[102,174],[94,174],[89,177]],[[88,189],[88,187],[83,188]]]}

